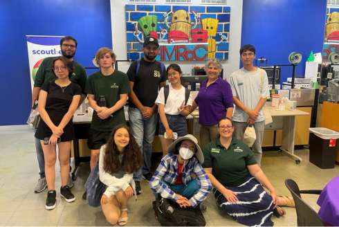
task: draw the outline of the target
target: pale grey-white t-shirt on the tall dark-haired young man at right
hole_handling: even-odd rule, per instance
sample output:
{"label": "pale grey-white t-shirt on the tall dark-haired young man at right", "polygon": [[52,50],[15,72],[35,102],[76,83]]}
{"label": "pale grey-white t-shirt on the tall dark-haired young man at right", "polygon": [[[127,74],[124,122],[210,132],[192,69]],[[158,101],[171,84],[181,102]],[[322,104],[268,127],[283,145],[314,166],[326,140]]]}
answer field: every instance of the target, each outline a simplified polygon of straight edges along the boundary
{"label": "pale grey-white t-shirt on the tall dark-haired young man at right", "polygon": [[[266,71],[262,71],[262,88],[260,70],[257,69],[254,72],[247,71],[244,68],[235,71],[230,75],[230,87],[232,89],[232,95],[236,96],[242,104],[250,110],[255,109],[259,102],[259,96],[262,94],[262,98],[269,98],[270,92],[268,90],[268,79]],[[265,120],[262,114],[262,109],[259,111],[256,122]],[[237,122],[246,122],[248,114],[242,111],[237,105],[233,112],[232,120]]]}

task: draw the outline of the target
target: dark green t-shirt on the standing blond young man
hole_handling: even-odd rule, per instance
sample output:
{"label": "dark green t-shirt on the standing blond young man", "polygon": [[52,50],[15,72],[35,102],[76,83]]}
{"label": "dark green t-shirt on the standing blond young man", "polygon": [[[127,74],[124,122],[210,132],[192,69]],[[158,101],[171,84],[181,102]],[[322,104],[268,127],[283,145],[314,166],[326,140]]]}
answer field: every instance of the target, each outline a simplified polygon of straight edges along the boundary
{"label": "dark green t-shirt on the standing blond young man", "polygon": [[[98,104],[100,96],[105,96],[107,107],[111,108],[120,100],[120,94],[131,92],[129,79],[125,73],[114,70],[111,75],[102,75],[101,70],[89,75],[86,85],[86,93],[94,95],[94,99]],[[91,129],[98,131],[112,131],[116,125],[126,125],[124,108],[114,112],[112,117],[104,120],[98,117],[98,114],[93,111]]]}

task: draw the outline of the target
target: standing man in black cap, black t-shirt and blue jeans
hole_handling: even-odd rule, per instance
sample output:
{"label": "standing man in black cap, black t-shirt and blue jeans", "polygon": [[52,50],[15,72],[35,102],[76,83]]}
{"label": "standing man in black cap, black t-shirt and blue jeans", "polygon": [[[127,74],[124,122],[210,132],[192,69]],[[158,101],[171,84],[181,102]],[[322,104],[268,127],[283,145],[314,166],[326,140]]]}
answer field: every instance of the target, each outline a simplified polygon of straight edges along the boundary
{"label": "standing man in black cap, black t-shirt and blue jeans", "polygon": [[167,80],[164,64],[156,61],[158,48],[158,39],[147,37],[143,45],[145,56],[132,62],[127,71],[131,86],[128,109],[129,127],[144,156],[143,167],[133,176],[136,182],[136,194],[143,192],[140,186],[141,178],[145,178],[149,183],[153,176],[150,172],[151,156],[158,121],[158,105],[154,102],[158,96],[158,89],[165,86]]}

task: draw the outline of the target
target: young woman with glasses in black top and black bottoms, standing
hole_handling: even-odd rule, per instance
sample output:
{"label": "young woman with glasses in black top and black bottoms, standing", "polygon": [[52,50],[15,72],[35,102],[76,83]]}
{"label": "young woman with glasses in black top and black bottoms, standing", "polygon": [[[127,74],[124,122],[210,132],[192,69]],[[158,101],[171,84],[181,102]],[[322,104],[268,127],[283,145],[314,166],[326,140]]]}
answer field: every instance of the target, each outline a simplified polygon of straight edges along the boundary
{"label": "young woman with glasses in black top and black bottoms, standing", "polygon": [[57,159],[56,145],[59,148],[59,163],[62,187],[60,194],[67,202],[75,201],[75,196],[68,188],[69,151],[71,140],[75,138],[71,120],[77,105],[79,105],[81,88],[71,82],[73,64],[66,57],[55,57],[52,61],[52,71],[56,75],[53,82],[44,82],[39,94],[39,113],[42,120],[35,132],[35,137],[42,143],[45,156],[45,173],[48,186],[46,209],[51,210],[56,205],[55,192],[55,161]]}

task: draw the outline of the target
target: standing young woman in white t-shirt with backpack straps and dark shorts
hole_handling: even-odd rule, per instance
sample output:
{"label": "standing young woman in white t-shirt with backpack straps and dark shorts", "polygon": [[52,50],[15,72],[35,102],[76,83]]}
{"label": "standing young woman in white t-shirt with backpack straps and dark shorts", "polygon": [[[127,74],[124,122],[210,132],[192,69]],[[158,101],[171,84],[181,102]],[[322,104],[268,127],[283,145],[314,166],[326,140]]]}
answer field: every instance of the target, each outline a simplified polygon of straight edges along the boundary
{"label": "standing young woman in white t-shirt with backpack straps and dark shorts", "polygon": [[[186,102],[186,89],[181,85],[181,75],[183,72],[177,64],[170,64],[167,67],[167,78],[171,83],[168,85],[169,93],[165,100],[165,87],[162,87],[156,105],[158,105],[160,121],[158,135],[163,147],[163,157],[168,154],[167,148],[174,141],[174,133],[178,138],[187,135],[186,116],[190,112],[192,106],[192,95],[190,94]],[[167,138],[164,135],[167,135]]]}

